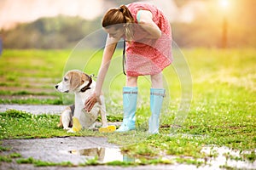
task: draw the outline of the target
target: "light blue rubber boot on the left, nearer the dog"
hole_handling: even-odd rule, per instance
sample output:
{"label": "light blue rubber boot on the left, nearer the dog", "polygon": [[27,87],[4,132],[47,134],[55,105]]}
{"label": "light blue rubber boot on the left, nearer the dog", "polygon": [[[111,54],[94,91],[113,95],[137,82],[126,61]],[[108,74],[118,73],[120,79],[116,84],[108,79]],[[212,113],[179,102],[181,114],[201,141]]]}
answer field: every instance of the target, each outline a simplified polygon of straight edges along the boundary
{"label": "light blue rubber boot on the left, nearer the dog", "polygon": [[124,118],[121,126],[115,132],[127,132],[135,129],[135,112],[137,107],[137,87],[123,88]]}

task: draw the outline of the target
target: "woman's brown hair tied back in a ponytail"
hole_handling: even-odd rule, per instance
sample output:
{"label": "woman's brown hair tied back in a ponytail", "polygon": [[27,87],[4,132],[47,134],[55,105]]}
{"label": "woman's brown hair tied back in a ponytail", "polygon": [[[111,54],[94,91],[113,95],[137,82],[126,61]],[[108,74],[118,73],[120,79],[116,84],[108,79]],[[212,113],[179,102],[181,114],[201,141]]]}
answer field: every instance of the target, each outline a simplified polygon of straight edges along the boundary
{"label": "woman's brown hair tied back in a ponytail", "polygon": [[121,24],[125,24],[125,37],[127,41],[130,41],[133,37],[133,32],[131,29],[134,19],[131,12],[125,5],[121,5],[119,8],[111,8],[104,15],[102,20],[102,27],[108,27],[116,25],[115,28],[119,29]]}

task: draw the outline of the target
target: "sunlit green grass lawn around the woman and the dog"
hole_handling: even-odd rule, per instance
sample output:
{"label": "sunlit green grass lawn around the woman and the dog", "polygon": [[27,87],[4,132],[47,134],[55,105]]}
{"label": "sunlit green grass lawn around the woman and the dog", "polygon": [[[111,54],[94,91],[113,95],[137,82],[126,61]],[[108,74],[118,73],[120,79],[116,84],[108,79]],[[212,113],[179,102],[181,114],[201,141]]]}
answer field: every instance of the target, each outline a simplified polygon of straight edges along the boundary
{"label": "sunlit green grass lawn around the woman and the dog", "polygon": [[[131,156],[160,158],[178,156],[180,162],[201,165],[207,145],[241,150],[239,159],[255,161],[256,146],[256,50],[255,49],[183,49],[193,81],[193,99],[181,127],[172,133],[173,121],[181,104],[182,84],[174,66],[164,72],[168,96],[160,117],[160,134],[148,135],[148,77],[139,79],[137,130],[108,135],[84,130],[69,134],[57,128],[58,116],[32,116],[20,111],[0,113],[0,139],[50,138],[55,136],[106,136],[108,141],[123,145]],[[104,83],[108,121],[122,120],[121,51],[111,64]],[[63,73],[78,68],[96,74],[102,51],[4,50],[0,58],[0,102],[2,104],[69,104],[72,97],[55,91]],[[178,57],[178,56],[176,56]],[[44,96],[44,99],[42,99]],[[24,128],[29,126],[29,128]],[[27,130],[29,129],[29,131]],[[245,152],[248,151],[248,152]],[[189,156],[189,158],[184,158]],[[228,156],[227,159],[234,159]],[[194,161],[189,161],[194,160]],[[207,160],[207,159],[205,159]]]}

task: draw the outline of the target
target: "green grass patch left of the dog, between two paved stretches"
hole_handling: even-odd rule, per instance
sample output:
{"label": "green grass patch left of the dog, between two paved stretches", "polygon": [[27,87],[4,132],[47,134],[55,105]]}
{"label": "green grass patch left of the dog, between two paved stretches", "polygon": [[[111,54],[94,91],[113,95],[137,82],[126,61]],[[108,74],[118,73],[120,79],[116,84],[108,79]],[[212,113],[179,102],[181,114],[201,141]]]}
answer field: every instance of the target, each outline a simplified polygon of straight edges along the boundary
{"label": "green grass patch left of the dog, between two paved stretches", "polygon": [[57,115],[32,115],[24,111],[9,110],[0,114],[1,139],[50,138],[67,135],[58,128]]}

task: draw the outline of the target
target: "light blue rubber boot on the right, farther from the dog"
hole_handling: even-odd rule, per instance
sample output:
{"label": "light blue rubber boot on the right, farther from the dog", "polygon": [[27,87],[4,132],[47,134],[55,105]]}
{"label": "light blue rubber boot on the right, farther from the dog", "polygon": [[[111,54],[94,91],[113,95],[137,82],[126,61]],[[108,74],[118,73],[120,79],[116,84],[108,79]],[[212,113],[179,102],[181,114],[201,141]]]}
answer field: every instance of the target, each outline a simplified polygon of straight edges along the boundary
{"label": "light blue rubber boot on the right, farther from the dog", "polygon": [[166,95],[164,88],[150,88],[150,111],[151,116],[148,120],[148,133],[159,133],[159,116]]}

